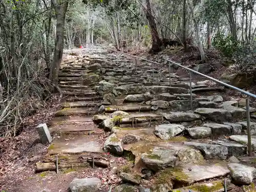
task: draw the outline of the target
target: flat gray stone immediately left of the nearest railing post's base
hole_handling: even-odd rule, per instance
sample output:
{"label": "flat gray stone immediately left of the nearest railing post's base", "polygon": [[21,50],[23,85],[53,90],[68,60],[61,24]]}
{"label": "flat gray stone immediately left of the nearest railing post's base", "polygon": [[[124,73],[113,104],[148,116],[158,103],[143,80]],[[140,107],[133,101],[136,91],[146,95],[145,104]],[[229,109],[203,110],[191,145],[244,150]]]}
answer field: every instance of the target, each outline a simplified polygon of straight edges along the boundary
{"label": "flat gray stone immediately left of the nearest railing post's base", "polygon": [[236,156],[240,157],[242,155],[247,154],[247,147],[238,143],[232,143],[232,142],[224,142],[224,141],[214,141],[214,144],[226,146],[228,150],[228,156]]}

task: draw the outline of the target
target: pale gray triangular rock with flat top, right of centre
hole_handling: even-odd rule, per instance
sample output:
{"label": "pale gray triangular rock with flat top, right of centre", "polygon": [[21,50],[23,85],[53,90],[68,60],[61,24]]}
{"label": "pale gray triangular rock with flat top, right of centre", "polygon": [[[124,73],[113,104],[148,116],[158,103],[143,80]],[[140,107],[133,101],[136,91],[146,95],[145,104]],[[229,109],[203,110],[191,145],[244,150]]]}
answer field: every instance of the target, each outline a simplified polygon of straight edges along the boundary
{"label": "pale gray triangular rock with flat top, right of centre", "polygon": [[183,132],[185,127],[180,124],[160,124],[155,128],[155,135],[163,140],[168,140]]}

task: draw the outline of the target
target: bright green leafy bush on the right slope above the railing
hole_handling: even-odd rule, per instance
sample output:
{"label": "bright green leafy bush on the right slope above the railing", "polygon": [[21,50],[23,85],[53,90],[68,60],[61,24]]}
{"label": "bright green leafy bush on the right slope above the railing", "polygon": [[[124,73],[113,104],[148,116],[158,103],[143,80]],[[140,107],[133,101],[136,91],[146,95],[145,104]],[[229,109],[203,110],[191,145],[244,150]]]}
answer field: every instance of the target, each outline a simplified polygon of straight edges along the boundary
{"label": "bright green leafy bush on the right slope above the railing", "polygon": [[228,57],[231,57],[238,49],[238,41],[231,35],[225,36],[221,32],[215,35],[212,45]]}

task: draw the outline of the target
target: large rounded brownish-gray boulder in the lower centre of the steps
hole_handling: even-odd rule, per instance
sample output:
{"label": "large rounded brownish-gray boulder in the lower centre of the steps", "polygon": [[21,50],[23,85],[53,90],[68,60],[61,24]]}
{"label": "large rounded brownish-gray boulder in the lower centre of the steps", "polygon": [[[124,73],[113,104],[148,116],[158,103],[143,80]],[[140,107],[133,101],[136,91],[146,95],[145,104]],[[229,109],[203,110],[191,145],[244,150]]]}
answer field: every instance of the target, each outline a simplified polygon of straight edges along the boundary
{"label": "large rounded brownish-gray boulder in the lower centre of the steps", "polygon": [[155,147],[150,154],[141,154],[141,160],[148,168],[155,172],[159,169],[174,167],[178,164],[176,150],[159,147]]}

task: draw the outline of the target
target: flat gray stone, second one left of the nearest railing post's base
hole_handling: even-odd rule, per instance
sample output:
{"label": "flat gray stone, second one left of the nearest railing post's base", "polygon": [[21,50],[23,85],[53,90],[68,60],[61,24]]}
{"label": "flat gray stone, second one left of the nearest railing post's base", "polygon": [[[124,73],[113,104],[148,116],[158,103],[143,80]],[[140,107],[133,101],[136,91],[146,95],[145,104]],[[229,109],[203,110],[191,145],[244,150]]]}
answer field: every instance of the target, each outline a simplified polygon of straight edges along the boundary
{"label": "flat gray stone, second one left of the nearest railing post's base", "polygon": [[184,144],[194,146],[197,150],[200,150],[205,159],[226,160],[228,156],[228,149],[226,146],[198,142],[184,142]]}

